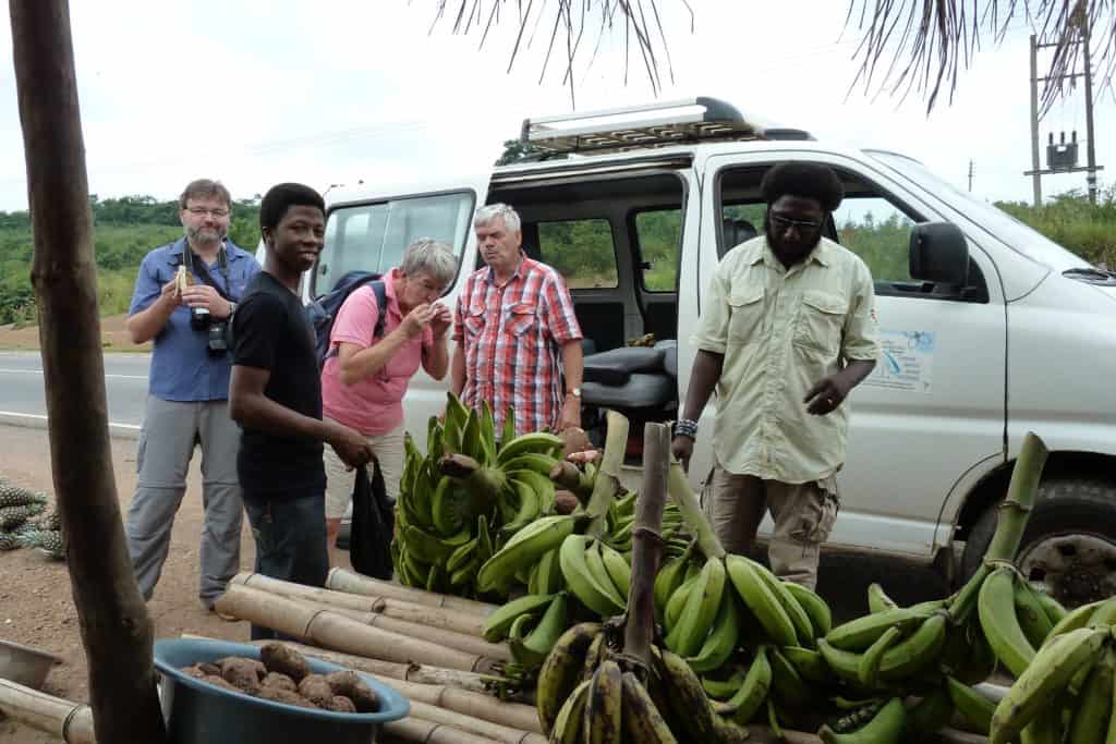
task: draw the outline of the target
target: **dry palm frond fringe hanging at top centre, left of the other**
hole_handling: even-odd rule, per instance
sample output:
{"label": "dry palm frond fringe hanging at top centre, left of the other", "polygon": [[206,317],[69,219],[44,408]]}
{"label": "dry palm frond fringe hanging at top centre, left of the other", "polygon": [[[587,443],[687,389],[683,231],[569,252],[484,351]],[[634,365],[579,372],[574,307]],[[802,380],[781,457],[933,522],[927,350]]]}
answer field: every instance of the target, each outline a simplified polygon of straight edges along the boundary
{"label": "dry palm frond fringe hanging at top centre, left of the other", "polygon": [[[693,32],[693,9],[687,0],[674,0],[690,15],[690,31]],[[501,12],[509,4],[514,12]],[[480,33],[480,47],[489,44],[489,33],[503,19],[517,25],[514,42],[508,59],[508,70],[535,40],[535,29],[546,18],[550,28],[542,58],[539,83],[546,78],[556,48],[565,47],[562,85],[569,87],[570,102],[576,104],[575,68],[587,58],[586,69],[593,66],[600,49],[600,41],[607,36],[623,30],[624,81],[627,84],[627,60],[634,45],[643,59],[644,71],[654,95],[663,88],[660,74],[661,60],[665,60],[667,75],[674,80],[674,69],[667,45],[667,32],[662,21],[660,7],[663,0],[434,0],[435,12],[430,30],[452,16],[452,32],[468,36]],[[509,9],[510,10],[510,9]],[[620,27],[623,26],[623,29]],[[530,28],[530,32],[528,32]],[[587,41],[596,33],[596,42]],[[591,49],[590,49],[591,46]],[[558,52],[561,55],[562,52]],[[587,56],[587,57],[586,57]]]}

